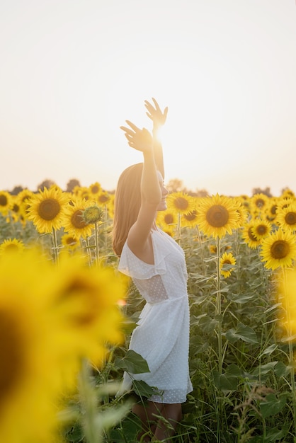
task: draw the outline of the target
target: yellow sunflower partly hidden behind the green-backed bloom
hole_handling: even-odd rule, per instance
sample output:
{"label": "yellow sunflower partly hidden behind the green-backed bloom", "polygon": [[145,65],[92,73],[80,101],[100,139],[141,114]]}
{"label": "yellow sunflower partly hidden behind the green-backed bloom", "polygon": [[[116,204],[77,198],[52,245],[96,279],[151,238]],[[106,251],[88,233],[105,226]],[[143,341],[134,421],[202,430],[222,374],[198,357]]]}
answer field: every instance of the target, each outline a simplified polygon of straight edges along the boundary
{"label": "yellow sunflower partly hidden behind the green-backed bloom", "polygon": [[62,226],[68,234],[76,239],[86,238],[92,234],[93,226],[86,223],[83,217],[85,209],[91,205],[92,203],[87,200],[76,198],[64,209]]}

